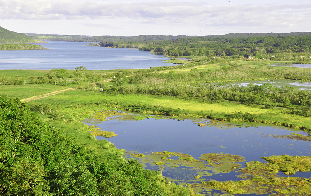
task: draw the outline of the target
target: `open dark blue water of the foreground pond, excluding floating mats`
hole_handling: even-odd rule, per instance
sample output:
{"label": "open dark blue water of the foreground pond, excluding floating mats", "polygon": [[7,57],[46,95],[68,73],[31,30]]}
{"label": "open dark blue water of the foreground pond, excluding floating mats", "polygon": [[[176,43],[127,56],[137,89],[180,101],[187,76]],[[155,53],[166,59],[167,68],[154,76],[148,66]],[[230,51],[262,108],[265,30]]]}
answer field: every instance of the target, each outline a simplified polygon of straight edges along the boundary
{"label": "open dark blue water of the foreground pond, excluding floating mats", "polygon": [[[265,161],[260,157],[272,155],[310,156],[311,142],[293,137],[292,133],[305,136],[303,131],[293,131],[285,127],[262,126],[262,124],[232,125],[225,122],[213,122],[208,119],[143,119],[134,120],[127,118],[130,114],[120,113],[106,121],[87,119],[84,123],[95,125],[105,131],[114,131],[118,136],[97,139],[105,139],[113,143],[117,148],[135,153],[150,154],[152,152],[181,152],[191,155],[193,158],[201,154],[223,153],[245,157],[245,162]],[[138,115],[138,114],[131,114]],[[198,126],[202,123],[206,126]],[[172,158],[174,159],[174,158]],[[157,170],[159,166],[148,163],[144,158],[139,159],[147,169]],[[152,162],[152,161],[151,161]],[[239,162],[241,167],[245,162]],[[165,166],[165,165],[164,165]],[[203,176],[203,180],[241,180],[235,171],[211,172]],[[170,179],[186,183],[194,180],[198,170],[192,167],[166,167],[163,175]],[[210,172],[210,171],[209,171]],[[286,176],[278,173],[279,176]],[[297,172],[294,177],[311,176],[311,172]]]}

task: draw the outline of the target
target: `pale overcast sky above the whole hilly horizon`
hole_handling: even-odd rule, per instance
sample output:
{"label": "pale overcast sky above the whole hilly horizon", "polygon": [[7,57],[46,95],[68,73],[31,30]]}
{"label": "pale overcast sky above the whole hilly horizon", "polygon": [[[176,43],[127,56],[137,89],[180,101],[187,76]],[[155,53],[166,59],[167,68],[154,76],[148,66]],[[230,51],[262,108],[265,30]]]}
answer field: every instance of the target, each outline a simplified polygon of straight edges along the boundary
{"label": "pale overcast sky above the whole hilly horizon", "polygon": [[310,0],[0,0],[19,33],[215,35],[311,31]]}

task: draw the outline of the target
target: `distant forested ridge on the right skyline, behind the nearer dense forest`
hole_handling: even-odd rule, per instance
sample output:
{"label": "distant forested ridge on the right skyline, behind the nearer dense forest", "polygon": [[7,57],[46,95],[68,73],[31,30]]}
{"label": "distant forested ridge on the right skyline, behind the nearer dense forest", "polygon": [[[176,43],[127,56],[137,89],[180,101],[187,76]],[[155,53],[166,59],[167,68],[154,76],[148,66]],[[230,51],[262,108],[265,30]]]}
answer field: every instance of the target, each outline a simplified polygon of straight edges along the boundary
{"label": "distant forested ridge on the right skyline, behind the nearer dense forest", "polygon": [[276,36],[305,36],[311,32],[291,32],[291,33],[229,33],[225,35],[207,35],[205,38],[249,38],[249,37],[276,37]]}

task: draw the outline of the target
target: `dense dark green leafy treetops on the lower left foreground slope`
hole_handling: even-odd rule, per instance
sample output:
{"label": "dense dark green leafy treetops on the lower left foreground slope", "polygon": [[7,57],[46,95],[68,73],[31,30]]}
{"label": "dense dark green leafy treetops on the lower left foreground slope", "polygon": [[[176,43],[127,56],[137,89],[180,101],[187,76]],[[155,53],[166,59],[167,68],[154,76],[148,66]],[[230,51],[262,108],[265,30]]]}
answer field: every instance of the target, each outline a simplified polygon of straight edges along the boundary
{"label": "dense dark green leafy treetops on the lower left foreground slope", "polygon": [[[165,195],[159,172],[104,141],[96,153],[45,125],[26,103],[0,97],[1,195]],[[187,192],[187,191],[186,191]],[[188,195],[189,195],[188,191]],[[170,195],[175,195],[171,193]]]}

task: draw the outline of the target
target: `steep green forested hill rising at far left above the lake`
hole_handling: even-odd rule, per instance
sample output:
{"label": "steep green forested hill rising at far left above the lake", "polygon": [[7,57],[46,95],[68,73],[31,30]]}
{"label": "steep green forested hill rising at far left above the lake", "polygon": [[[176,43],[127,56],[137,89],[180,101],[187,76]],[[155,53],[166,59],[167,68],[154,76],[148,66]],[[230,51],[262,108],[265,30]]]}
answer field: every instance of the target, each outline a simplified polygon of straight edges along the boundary
{"label": "steep green forested hill rising at far left above the lake", "polygon": [[34,43],[35,40],[23,33],[16,33],[0,27],[0,43]]}

